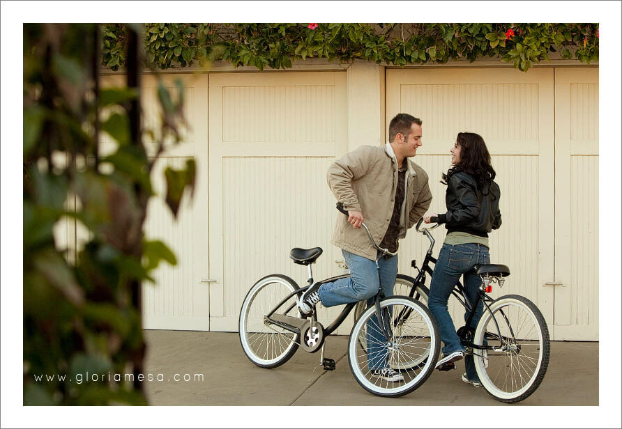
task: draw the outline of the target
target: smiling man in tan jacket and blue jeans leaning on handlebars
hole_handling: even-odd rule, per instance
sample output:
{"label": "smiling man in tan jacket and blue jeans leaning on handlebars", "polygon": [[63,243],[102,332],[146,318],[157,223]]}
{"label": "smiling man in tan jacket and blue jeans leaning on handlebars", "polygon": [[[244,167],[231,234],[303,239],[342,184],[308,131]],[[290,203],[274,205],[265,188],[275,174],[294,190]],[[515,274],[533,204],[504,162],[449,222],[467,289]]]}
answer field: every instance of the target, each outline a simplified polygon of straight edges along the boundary
{"label": "smiling man in tan jacket and blue jeans leaning on handlebars", "polygon": [[[361,223],[365,221],[380,247],[397,251],[397,240],[406,236],[407,229],[416,224],[432,201],[427,174],[408,159],[416,155],[419,146],[421,120],[397,114],[390,121],[386,145],[362,146],[328,168],[328,186],[349,214],[347,218],[337,217],[331,243],[342,249],[351,276],[333,283],[314,283],[301,297],[304,314],[311,313],[317,302],[326,307],[363,300],[370,304],[380,288],[386,297],[393,295],[397,256],[379,259],[379,284],[377,250]],[[386,342],[382,338],[379,341]],[[400,373],[388,368],[381,352],[370,357],[369,366],[384,380],[403,380]]]}

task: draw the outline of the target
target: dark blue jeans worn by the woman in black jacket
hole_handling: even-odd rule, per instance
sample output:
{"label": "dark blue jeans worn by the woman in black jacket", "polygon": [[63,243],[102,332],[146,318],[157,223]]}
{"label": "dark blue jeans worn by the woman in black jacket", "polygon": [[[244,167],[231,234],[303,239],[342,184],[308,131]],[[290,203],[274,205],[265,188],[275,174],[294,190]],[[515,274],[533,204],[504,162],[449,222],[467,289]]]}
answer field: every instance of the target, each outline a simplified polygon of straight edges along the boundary
{"label": "dark blue jeans worn by the woman in black jacket", "polygon": [[[475,302],[478,289],[482,280],[473,270],[476,265],[490,264],[490,253],[488,248],[482,244],[443,244],[439,252],[439,258],[434,265],[432,281],[430,283],[430,296],[427,299],[427,306],[437,320],[441,331],[441,341],[443,341],[443,354],[450,354],[458,350],[465,351],[464,345],[460,343],[460,338],[456,334],[455,326],[449,311],[447,302],[455,284],[464,274],[464,288],[467,290],[469,303]],[[471,327],[475,329],[482,317],[483,304],[478,303],[477,311],[471,320]],[[469,312],[464,313],[466,322]],[[473,364],[473,356],[468,355],[464,359],[464,366],[467,368],[467,377],[472,381],[479,381],[479,377]]]}

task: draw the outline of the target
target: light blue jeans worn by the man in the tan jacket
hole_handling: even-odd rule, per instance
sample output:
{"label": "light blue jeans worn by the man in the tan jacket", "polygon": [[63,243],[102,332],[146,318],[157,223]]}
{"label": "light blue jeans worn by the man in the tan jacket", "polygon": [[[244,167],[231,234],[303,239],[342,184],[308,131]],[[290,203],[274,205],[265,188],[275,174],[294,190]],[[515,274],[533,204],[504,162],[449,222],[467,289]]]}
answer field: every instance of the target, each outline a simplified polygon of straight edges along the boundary
{"label": "light blue jeans worn by the man in the tan jacket", "polygon": [[[393,287],[397,278],[397,256],[382,257],[378,260],[380,283],[376,262],[349,251],[342,250],[350,269],[350,276],[333,283],[324,283],[318,293],[322,305],[332,307],[349,302],[367,301],[367,306],[374,303],[374,297],[381,288],[385,297],[393,296]],[[374,345],[381,345],[374,347]],[[388,366],[386,339],[379,329],[376,315],[367,322],[367,359],[370,370]]]}

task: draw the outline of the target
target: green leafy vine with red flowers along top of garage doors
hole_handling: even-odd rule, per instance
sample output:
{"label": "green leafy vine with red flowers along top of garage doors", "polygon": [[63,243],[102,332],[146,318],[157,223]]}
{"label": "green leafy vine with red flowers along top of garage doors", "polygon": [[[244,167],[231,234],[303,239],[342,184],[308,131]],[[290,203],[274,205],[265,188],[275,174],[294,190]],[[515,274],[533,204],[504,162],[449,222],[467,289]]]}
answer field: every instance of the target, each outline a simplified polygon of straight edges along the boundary
{"label": "green leafy vine with red flowers along top of garage doors", "polygon": [[[145,24],[151,68],[226,61],[235,67],[291,68],[307,58],[386,65],[500,59],[519,70],[550,52],[598,61],[598,24]],[[103,26],[103,65],[125,64],[124,26]]]}

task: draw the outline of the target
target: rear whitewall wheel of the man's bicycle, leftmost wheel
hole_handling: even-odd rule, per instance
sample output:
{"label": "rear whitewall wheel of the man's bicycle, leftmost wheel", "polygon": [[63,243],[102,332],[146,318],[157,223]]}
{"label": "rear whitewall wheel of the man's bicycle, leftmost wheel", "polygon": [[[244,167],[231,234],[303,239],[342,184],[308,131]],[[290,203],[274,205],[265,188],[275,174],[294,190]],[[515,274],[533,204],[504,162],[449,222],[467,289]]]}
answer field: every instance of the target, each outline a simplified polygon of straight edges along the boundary
{"label": "rear whitewall wheel of the man's bicycle, leftmost wheel", "polygon": [[[298,350],[300,334],[264,320],[269,311],[296,289],[296,282],[281,274],[266,276],[250,288],[240,312],[239,333],[244,353],[253,364],[276,368]],[[300,317],[296,295],[289,297],[276,312]]]}

